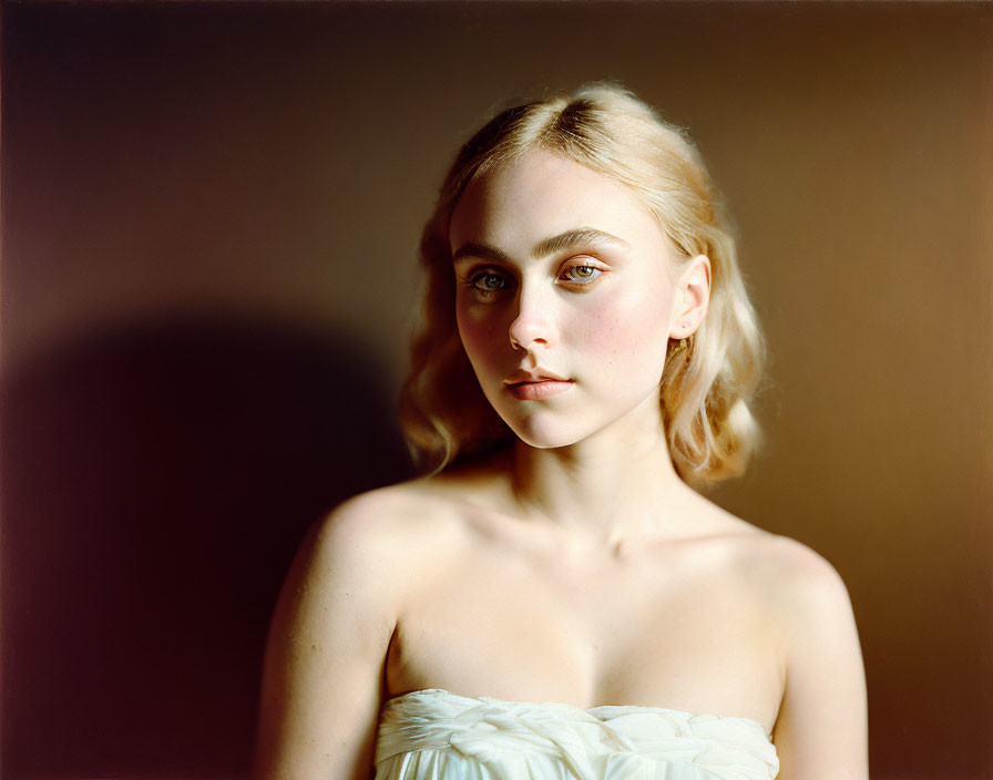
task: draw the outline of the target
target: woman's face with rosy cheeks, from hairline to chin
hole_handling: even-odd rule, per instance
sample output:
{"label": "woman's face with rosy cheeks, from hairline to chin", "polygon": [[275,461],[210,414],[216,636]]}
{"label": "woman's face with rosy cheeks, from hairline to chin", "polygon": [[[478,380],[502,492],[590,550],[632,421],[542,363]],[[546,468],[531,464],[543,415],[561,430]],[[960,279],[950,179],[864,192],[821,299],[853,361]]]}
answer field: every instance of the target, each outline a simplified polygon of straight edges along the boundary
{"label": "woman's face with rosy cheeks, from hairline to chin", "polygon": [[533,151],[467,188],[450,240],[462,343],[483,393],[524,442],[661,430],[658,386],[682,294],[675,252],[634,195]]}

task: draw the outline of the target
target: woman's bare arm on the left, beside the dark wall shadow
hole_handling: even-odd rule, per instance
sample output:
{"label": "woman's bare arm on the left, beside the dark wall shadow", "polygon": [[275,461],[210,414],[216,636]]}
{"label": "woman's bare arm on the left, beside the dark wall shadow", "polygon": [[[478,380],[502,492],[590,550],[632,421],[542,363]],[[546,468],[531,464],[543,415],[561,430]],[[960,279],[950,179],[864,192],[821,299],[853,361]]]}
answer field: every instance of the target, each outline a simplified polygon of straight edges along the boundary
{"label": "woman's bare arm on the left, beside the dark wall shadow", "polygon": [[367,780],[396,625],[389,523],[352,500],[316,524],[273,618],[256,780]]}

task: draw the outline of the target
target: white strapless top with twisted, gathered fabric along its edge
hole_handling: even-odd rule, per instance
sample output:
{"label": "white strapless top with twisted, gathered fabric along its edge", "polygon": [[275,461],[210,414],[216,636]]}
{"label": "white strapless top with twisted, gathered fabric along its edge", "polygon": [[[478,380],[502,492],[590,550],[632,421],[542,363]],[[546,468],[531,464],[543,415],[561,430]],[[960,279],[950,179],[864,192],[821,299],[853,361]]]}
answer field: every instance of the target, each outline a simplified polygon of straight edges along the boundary
{"label": "white strapless top with twisted, gathered fabric along its edge", "polygon": [[776,748],[749,718],[663,707],[501,701],[440,688],[389,699],[376,780],[774,780]]}

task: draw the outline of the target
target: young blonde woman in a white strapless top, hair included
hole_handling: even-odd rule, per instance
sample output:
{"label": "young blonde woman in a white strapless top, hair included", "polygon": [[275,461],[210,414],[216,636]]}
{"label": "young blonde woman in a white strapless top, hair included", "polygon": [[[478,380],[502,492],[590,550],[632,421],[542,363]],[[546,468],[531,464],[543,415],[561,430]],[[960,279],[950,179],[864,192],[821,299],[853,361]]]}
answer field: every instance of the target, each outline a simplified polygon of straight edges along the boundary
{"label": "young blonde woman in a white strapless top, hair included", "polygon": [[844,585],[694,490],[755,445],[761,341],[692,143],[613,86],[510,109],[421,259],[430,475],[308,536],[257,776],[866,778]]}

